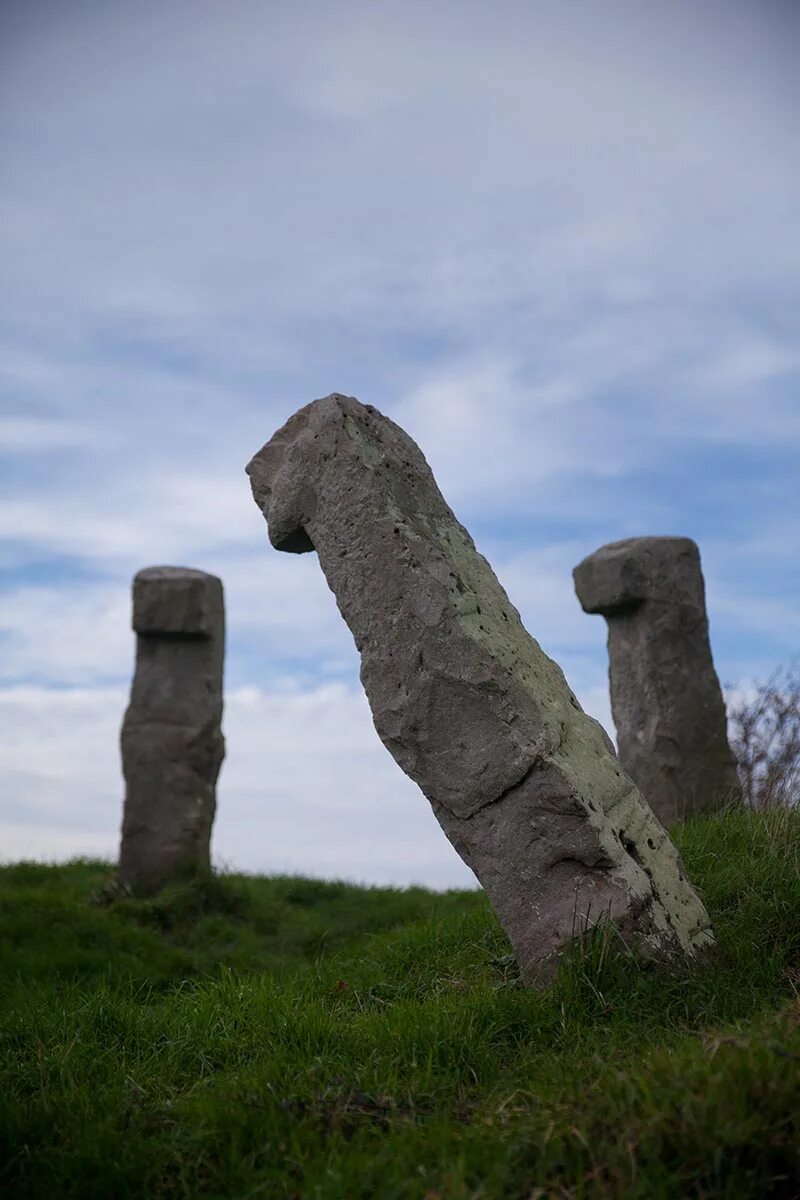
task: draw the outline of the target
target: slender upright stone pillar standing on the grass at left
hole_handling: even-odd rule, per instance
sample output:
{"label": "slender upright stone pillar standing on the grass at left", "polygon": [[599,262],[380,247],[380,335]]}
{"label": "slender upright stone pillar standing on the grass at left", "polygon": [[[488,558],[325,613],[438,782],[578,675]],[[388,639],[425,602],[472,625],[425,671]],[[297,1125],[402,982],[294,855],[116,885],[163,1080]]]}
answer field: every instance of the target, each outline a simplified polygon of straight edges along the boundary
{"label": "slender upright stone pillar standing on the grass at left", "polygon": [[133,629],[119,882],[136,895],[151,895],[169,880],[210,868],[224,755],[222,582],[184,566],[139,571]]}

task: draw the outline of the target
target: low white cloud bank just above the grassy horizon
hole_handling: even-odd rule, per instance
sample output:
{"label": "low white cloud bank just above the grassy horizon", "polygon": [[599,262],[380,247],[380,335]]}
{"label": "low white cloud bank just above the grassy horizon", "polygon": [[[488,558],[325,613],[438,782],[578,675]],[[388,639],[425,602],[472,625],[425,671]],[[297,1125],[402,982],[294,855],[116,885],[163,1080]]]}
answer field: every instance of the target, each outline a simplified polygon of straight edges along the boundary
{"label": "low white cloud bank just above the grassy horizon", "polygon": [[[602,716],[602,689],[583,700]],[[114,858],[121,688],[0,690],[0,857]],[[215,860],[239,870],[469,886],[419,788],[380,745],[359,689],[231,690]]]}

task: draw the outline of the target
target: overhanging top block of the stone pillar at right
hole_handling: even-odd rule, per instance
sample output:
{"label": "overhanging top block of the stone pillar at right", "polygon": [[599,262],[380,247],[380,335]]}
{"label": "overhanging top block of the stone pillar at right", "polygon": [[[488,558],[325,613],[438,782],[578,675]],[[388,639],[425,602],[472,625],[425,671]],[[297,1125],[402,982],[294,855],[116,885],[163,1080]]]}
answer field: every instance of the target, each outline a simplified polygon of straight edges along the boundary
{"label": "overhanging top block of the stone pillar at right", "polygon": [[614,617],[663,594],[669,580],[699,569],[691,538],[626,538],[584,558],[572,578],[584,612]]}

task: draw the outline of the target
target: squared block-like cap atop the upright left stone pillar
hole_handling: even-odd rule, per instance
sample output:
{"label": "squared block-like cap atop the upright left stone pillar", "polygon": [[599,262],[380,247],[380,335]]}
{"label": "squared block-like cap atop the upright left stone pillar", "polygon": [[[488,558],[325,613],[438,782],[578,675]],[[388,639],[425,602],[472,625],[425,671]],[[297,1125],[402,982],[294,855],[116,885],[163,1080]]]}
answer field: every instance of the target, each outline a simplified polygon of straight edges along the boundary
{"label": "squared block-like cap atop the upright left stone pillar", "polygon": [[133,577],[133,629],[144,636],[213,637],[224,628],[222,580],[190,566],[148,566]]}

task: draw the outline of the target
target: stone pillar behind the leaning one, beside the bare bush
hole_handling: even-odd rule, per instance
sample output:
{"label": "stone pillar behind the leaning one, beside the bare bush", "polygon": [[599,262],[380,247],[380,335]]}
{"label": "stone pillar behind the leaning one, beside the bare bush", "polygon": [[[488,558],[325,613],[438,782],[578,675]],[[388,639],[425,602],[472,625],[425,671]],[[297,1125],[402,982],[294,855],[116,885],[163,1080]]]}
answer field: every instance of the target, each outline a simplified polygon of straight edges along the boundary
{"label": "stone pillar behind the leaning one, beside the bare bush", "polygon": [[696,544],[628,538],[573,574],[583,608],[608,622],[620,762],[658,820],[740,800]]}

